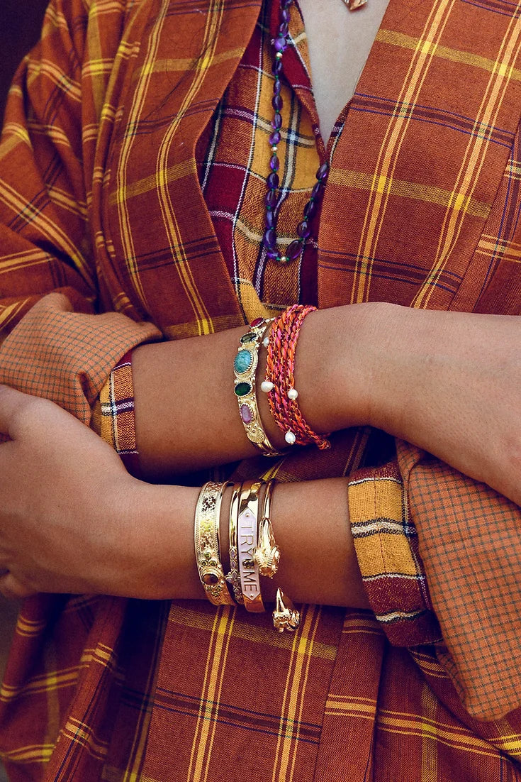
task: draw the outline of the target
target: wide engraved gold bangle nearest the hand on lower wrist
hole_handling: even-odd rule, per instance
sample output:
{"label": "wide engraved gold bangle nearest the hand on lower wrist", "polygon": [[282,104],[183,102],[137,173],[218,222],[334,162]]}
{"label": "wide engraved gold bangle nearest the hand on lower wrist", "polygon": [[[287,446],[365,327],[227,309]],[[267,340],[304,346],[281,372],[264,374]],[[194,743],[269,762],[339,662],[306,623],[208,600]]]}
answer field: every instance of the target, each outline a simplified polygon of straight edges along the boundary
{"label": "wide engraved gold bangle nearest the hand on lower wrist", "polygon": [[229,483],[205,483],[195,506],[195,561],[206,597],[213,605],[234,605],[219,558],[219,513],[227,486]]}

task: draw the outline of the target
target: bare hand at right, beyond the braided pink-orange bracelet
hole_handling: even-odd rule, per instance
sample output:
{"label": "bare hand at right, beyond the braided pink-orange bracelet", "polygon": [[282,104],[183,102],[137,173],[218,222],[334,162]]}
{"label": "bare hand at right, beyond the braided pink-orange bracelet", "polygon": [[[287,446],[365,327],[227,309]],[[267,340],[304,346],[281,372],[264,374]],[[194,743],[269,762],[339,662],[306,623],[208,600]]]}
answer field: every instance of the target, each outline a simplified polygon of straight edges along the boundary
{"label": "bare hand at right, beyond the braided pink-orange bracelet", "polygon": [[521,318],[376,307],[369,422],[521,505]]}

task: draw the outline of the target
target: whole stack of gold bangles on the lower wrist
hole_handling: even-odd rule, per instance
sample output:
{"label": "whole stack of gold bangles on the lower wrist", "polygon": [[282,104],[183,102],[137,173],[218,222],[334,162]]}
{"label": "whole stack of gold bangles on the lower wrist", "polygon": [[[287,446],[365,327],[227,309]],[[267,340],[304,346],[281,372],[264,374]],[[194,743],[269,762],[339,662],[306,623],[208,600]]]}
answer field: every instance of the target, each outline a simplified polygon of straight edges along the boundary
{"label": "whole stack of gold bangles on the lower wrist", "polygon": [[[219,544],[223,493],[233,486],[230,515],[230,572],[224,575]],[[273,578],[280,563],[270,513],[275,482],[230,484],[210,481],[199,493],[195,508],[195,561],[205,595],[213,605],[243,605],[248,612],[265,611],[261,577]],[[282,590],[277,590],[273,626],[279,632],[296,630],[300,614]]]}

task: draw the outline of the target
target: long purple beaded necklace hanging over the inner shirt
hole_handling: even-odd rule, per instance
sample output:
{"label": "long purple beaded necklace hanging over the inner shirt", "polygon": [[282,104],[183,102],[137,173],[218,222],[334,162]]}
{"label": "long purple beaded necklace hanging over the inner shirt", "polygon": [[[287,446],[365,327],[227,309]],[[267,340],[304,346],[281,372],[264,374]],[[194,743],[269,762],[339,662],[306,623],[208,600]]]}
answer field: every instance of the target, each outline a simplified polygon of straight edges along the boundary
{"label": "long purple beaded necklace hanging over the inner shirt", "polygon": [[269,161],[269,167],[271,174],[266,180],[268,185],[268,192],[266,193],[266,230],[262,237],[262,244],[266,248],[266,255],[277,262],[277,264],[289,264],[292,260],[298,258],[304,250],[305,241],[311,234],[311,228],[309,223],[312,221],[312,217],[315,215],[318,208],[320,199],[323,196],[324,187],[326,185],[327,174],[329,173],[329,164],[322,163],[319,170],[316,172],[316,185],[313,187],[311,196],[308,203],[304,207],[304,219],[297,226],[298,239],[294,239],[290,246],[286,250],[285,255],[281,255],[277,250],[277,203],[279,200],[279,174],[280,161],[277,157],[277,144],[280,143],[280,128],[282,127],[282,95],[280,90],[282,89],[282,82],[280,81],[280,74],[282,73],[282,58],[288,45],[288,33],[289,33],[289,21],[290,21],[290,6],[293,0],[280,0],[280,24],[277,30],[277,38],[273,41],[273,48],[275,50],[275,57],[273,59],[273,66],[271,68],[272,74],[275,77],[273,83],[273,99],[271,104],[275,111],[271,127],[273,132],[269,135],[269,146],[271,148],[271,160]]}

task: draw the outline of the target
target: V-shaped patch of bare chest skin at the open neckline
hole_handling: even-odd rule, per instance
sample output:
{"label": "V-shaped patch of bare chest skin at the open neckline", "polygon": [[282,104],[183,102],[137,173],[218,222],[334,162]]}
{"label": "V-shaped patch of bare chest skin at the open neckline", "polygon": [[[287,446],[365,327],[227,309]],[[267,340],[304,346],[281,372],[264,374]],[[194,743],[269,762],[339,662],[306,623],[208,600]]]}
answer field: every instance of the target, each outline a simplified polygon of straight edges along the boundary
{"label": "V-shaped patch of bare chest skin at the open neckline", "polygon": [[342,0],[299,0],[308,37],[313,92],[324,142],[355,91],[387,0],[350,12]]}

